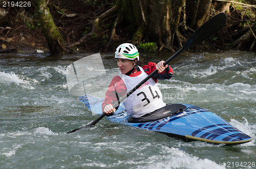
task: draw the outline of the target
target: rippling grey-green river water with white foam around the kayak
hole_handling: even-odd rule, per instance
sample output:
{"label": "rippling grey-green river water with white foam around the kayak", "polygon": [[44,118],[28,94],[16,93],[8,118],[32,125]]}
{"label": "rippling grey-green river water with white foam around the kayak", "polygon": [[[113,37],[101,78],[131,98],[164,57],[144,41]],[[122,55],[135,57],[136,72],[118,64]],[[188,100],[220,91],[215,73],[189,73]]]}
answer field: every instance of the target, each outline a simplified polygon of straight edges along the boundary
{"label": "rippling grey-green river water with white foam around the kayak", "polygon": [[[0,168],[256,168],[255,53],[183,52],[170,64],[174,78],[158,84],[166,103],[206,108],[253,138],[237,146],[185,142],[105,118],[66,134],[98,117],[66,81],[68,65],[86,55],[0,54]],[[169,56],[141,54],[145,63]],[[102,58],[116,71],[112,54]]]}

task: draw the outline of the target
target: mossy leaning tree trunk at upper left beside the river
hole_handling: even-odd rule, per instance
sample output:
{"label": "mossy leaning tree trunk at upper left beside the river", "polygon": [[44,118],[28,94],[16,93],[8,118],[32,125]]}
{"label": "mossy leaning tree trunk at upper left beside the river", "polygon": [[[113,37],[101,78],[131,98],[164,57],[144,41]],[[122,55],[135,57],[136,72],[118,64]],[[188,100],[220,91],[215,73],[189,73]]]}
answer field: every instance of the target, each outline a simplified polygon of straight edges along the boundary
{"label": "mossy leaning tree trunk at upper left beside the river", "polygon": [[67,52],[62,35],[56,27],[45,0],[34,0],[40,18],[41,31],[47,40],[52,55],[63,55]]}

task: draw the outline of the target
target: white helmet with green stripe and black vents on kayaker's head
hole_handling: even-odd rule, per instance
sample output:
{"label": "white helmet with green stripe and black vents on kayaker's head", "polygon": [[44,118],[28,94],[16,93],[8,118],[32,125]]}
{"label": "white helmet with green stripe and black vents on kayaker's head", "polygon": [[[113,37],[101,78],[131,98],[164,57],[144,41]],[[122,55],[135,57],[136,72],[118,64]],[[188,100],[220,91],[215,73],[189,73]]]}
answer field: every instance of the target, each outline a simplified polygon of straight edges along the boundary
{"label": "white helmet with green stripe and black vents on kayaker's head", "polygon": [[139,52],[135,45],[131,43],[120,44],[115,52],[115,58],[134,60],[135,58],[139,61]]}

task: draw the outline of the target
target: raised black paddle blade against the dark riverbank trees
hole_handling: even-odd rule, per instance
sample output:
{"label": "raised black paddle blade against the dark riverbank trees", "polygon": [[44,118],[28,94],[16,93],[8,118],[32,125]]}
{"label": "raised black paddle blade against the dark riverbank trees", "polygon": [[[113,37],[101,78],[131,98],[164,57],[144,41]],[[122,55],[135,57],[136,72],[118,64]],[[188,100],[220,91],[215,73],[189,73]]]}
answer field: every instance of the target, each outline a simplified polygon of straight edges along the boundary
{"label": "raised black paddle blade against the dark riverbank trees", "polygon": [[185,50],[188,47],[200,43],[203,40],[208,39],[212,35],[216,34],[226,25],[226,22],[227,16],[224,12],[221,12],[210,18],[207,22],[204,23],[204,25],[198,28],[196,32],[193,33],[193,35],[190,36],[190,38],[183,46],[183,49]]}

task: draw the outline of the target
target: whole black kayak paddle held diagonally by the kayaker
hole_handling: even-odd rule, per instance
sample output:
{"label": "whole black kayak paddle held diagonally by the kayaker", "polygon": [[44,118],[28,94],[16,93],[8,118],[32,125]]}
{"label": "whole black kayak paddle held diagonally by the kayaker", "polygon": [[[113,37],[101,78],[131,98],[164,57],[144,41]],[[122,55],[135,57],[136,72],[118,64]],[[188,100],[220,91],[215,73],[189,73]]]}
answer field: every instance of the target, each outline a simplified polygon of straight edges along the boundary
{"label": "whole black kayak paddle held diagonally by the kayaker", "polygon": [[[180,53],[182,53],[184,50],[186,50],[188,47],[193,46],[207,38],[209,38],[210,36],[214,35],[215,33],[219,32],[225,25],[226,25],[226,15],[225,13],[221,12],[217,15],[215,15],[214,17],[210,18],[207,22],[204,23],[204,25],[202,25],[199,29],[197,29],[191,36],[190,38],[187,40],[187,42],[184,44],[184,46],[177,51],[173,56],[171,56],[169,59],[167,59],[164,62],[164,66],[167,65],[170,61],[172,61],[173,59],[175,59]],[[127,92],[123,97],[120,98],[120,100],[118,100],[113,107],[117,107],[119,105],[119,103],[123,102],[129,95],[131,95],[134,91],[136,91],[141,85],[143,85],[146,81],[148,81],[150,78],[152,78],[156,73],[158,72],[158,70],[154,70],[150,75],[148,75],[145,79],[143,79],[138,85],[136,85],[132,90],[130,90],[129,92]],[[77,130],[81,130],[83,128],[88,128],[88,127],[92,127],[94,126],[96,123],[99,122],[99,120],[101,120],[104,116],[106,115],[106,113],[104,112],[103,114],[101,114],[97,119],[95,119],[91,124],[87,125],[87,126],[83,126],[83,127],[79,127],[77,129],[71,130],[67,133],[73,133]]]}

